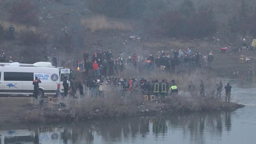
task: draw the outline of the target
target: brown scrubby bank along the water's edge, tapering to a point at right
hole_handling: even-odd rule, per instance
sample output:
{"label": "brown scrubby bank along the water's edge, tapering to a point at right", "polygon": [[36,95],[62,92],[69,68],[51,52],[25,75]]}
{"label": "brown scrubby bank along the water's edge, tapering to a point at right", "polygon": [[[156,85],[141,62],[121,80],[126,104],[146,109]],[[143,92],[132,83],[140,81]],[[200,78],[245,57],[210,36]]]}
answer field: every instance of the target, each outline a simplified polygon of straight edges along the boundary
{"label": "brown scrubby bank along the water's edge, tapering to a point at right", "polygon": [[[211,98],[191,100],[183,97],[170,97],[162,101],[142,101],[139,98],[66,99],[66,102],[69,101],[70,105],[54,107],[32,105],[31,100],[32,98],[29,97],[0,97],[1,125],[132,116],[161,116],[174,113],[233,111],[245,106]],[[54,101],[57,101],[57,99],[54,99]]]}

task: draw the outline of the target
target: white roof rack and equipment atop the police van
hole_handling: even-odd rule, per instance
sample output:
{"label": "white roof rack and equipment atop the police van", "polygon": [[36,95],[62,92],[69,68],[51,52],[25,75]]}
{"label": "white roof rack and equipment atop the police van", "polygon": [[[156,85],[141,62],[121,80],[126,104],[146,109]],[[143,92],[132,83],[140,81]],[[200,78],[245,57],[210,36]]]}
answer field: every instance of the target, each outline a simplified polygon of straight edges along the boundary
{"label": "white roof rack and equipment atop the police van", "polygon": [[10,66],[10,67],[48,67],[48,68],[55,68],[52,66],[51,62],[36,62],[33,64],[27,64],[27,63],[18,63],[18,62],[12,62],[12,63],[0,63],[0,66]]}

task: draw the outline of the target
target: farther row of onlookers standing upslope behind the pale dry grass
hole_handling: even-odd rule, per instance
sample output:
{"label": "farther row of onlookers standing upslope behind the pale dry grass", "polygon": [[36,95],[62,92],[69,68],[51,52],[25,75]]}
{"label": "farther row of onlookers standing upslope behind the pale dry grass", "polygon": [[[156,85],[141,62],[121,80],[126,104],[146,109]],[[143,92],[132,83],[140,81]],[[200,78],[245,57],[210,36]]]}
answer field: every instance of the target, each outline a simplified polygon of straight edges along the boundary
{"label": "farther row of onlookers standing upslope behind the pale dry grass", "polygon": [[158,51],[156,55],[142,56],[134,53],[134,55],[127,56],[120,53],[117,58],[113,57],[111,49],[105,51],[104,49],[97,50],[92,57],[87,53],[83,54],[83,60],[74,59],[73,68],[78,71],[84,71],[86,76],[112,76],[114,73],[122,72],[126,66],[133,66],[135,70],[153,70],[155,68],[165,70],[167,72],[185,72],[194,70],[196,68],[213,67],[213,54],[202,55],[201,53],[192,53],[190,48],[186,52],[174,51],[172,55],[165,54],[165,51]]}

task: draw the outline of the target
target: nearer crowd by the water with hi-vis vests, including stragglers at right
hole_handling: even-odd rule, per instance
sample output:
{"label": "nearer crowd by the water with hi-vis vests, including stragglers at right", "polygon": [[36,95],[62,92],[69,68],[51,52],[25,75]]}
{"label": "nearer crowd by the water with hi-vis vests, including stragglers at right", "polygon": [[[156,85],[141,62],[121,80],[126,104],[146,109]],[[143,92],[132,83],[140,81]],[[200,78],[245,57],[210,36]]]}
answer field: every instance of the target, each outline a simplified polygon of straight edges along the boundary
{"label": "nearer crowd by the water with hi-vis vests, including stragglers at right", "polygon": [[[130,80],[126,80],[123,78],[116,78],[116,77],[107,77],[104,80],[94,80],[92,77],[89,77],[87,79],[87,87],[91,91],[91,95],[93,96],[104,96],[104,93],[102,91],[103,85],[109,85],[113,88],[117,88],[120,91],[122,91],[123,94],[131,94],[135,93],[136,95],[147,95],[148,99],[151,99],[151,96],[154,95],[155,98],[162,98],[164,99],[166,96],[176,96],[179,92],[178,87],[175,83],[175,80],[172,80],[171,83],[169,83],[166,79],[163,79],[161,81],[153,80],[153,81],[147,81],[144,78],[141,78],[140,80],[137,80],[137,78],[131,78]],[[75,88],[71,84],[72,91],[75,91]],[[204,83],[201,80],[199,91],[197,91],[196,86],[190,82],[188,85],[188,91],[190,92],[190,95],[192,97],[195,96],[195,93],[200,93],[199,96],[205,98],[205,89],[204,89]],[[216,83],[216,98],[221,99],[222,96],[222,89],[223,84],[222,81],[219,83]],[[229,83],[224,87],[226,92],[226,101],[230,101],[230,93],[231,93],[231,86]],[[83,84],[80,83],[78,86],[80,96],[84,95],[84,87]]]}

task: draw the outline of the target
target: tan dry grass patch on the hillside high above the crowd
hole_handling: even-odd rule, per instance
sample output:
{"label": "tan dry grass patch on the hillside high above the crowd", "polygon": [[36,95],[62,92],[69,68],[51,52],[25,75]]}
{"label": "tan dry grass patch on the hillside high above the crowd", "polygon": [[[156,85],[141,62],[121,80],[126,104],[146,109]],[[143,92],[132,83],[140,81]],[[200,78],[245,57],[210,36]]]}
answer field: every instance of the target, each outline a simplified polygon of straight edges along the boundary
{"label": "tan dry grass patch on the hillside high above the crowd", "polygon": [[131,30],[132,27],[130,25],[124,24],[121,21],[110,20],[104,16],[95,16],[91,18],[83,18],[81,19],[82,25],[89,29],[91,32],[95,32],[98,30]]}

